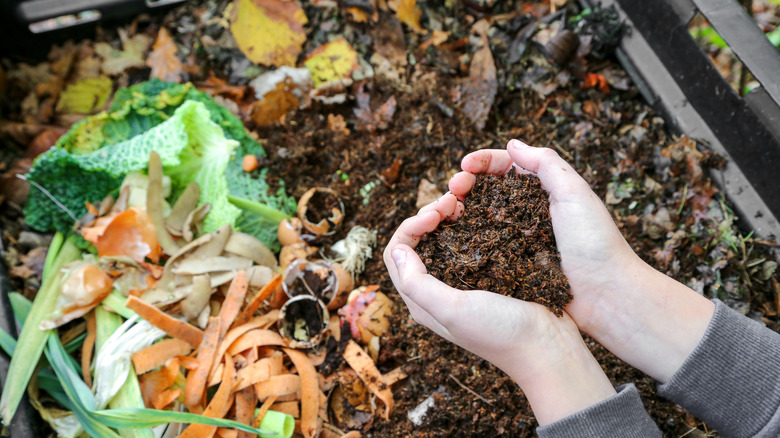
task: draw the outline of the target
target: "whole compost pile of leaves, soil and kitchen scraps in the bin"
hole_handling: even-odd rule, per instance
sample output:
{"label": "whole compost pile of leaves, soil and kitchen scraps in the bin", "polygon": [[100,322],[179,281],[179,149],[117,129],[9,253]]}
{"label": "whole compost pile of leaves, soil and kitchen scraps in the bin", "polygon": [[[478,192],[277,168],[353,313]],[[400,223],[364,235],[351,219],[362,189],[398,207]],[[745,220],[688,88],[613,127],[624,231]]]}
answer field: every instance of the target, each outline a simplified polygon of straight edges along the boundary
{"label": "whole compost pile of leaves, soil and kitchen scraps in the bin", "polygon": [[[25,303],[29,306],[29,300],[37,301],[41,294],[57,307],[58,297],[47,286],[52,280],[44,273],[52,271],[51,266],[44,269],[47,252],[52,254],[49,265],[55,256],[70,254],[81,259],[82,268],[95,266],[75,278],[102,278],[95,293],[111,289],[102,301],[83,301],[74,309],[61,306],[61,314],[27,316],[49,318],[54,324],[63,315],[73,316],[70,310],[91,306],[86,314],[57,321],[62,325],[56,329],[39,331],[36,345],[45,350],[51,366],[70,378],[60,379],[57,369],[43,366],[29,388],[24,382],[17,384],[17,395],[29,389],[33,404],[54,428],[63,426],[58,425],[59,418],[69,419],[64,426],[74,426],[74,415],[91,426],[92,420],[111,427],[127,421],[126,414],[111,418],[95,414],[101,410],[89,401],[95,393],[86,379],[88,375],[98,379],[100,373],[94,373],[96,365],[85,372],[81,364],[96,363],[99,357],[85,352],[100,356],[99,347],[122,321],[140,314],[130,307],[147,309],[137,301],[145,302],[147,289],[161,285],[170,262],[167,271],[173,273],[177,265],[181,272],[175,275],[181,278],[167,285],[164,293],[149,296],[163,299],[146,303],[157,309],[147,309],[150,320],[167,321],[168,330],[188,324],[197,331],[185,330],[202,332],[203,339],[219,339],[223,330],[229,336],[240,326],[209,324],[209,318],[222,320],[227,317],[220,316],[223,308],[234,309],[224,304],[235,303],[244,289],[241,281],[236,284],[242,278],[239,271],[246,272],[247,285],[237,315],[254,302],[259,307],[249,321],[262,319],[254,320],[257,326],[247,332],[253,334],[241,341],[252,345],[240,352],[236,349],[242,345],[232,347],[236,354],[221,353],[219,346],[213,350],[211,342],[196,349],[162,328],[152,327],[165,335],[155,332],[144,322],[150,321],[146,317],[134,320],[134,327],[144,324],[142,328],[161,336],[155,339],[190,351],[164,363],[159,354],[150,354],[153,350],[142,353],[137,357],[139,368],[157,365],[138,377],[148,380],[144,376],[156,373],[148,380],[154,385],[145,385],[154,389],[154,397],[144,400],[140,392],[120,391],[111,400],[120,403],[115,406],[155,408],[156,402],[162,408],[162,414],[154,414],[157,420],[171,422],[174,406],[186,409],[187,380],[200,382],[200,387],[205,374],[209,389],[184,414],[197,414],[200,406],[201,414],[219,416],[230,405],[220,418],[210,418],[219,423],[217,434],[232,436],[235,429],[227,430],[224,421],[237,419],[239,406],[242,418],[248,418],[251,410],[246,406],[252,403],[243,396],[250,394],[246,388],[233,391],[220,383],[230,379],[231,368],[236,370],[234,381],[239,374],[242,381],[250,374],[270,378],[272,370],[280,371],[281,360],[281,373],[273,376],[273,384],[255,384],[266,391],[258,393],[254,387],[255,396],[267,396],[264,402],[258,398],[256,405],[270,404],[268,412],[290,415],[299,428],[311,424],[314,397],[327,397],[327,403],[317,402],[315,424],[322,422],[322,434],[533,436],[536,421],[517,385],[489,363],[415,324],[393,292],[379,256],[405,218],[446,191],[465,154],[503,148],[510,138],[555,149],[570,162],[605,201],[620,231],[645,261],[777,330],[780,282],[776,260],[767,251],[774,243],[736,225],[738,218],[728,200],[707,176],[707,169],[723,165],[723,160],[693,139],[670,136],[663,120],[643,103],[611,55],[621,32],[610,11],[581,10],[576,2],[558,0],[193,1],[164,16],[139,16],[128,25],[100,28],[94,38],[66,41],[52,47],[45,60],[3,60],[0,227],[4,263],[16,292],[10,296],[18,315],[23,318]],[[193,149],[183,140],[190,135],[205,135],[214,140],[208,144],[221,149]],[[138,153],[113,154],[116,149],[106,149],[125,142],[140,147]],[[132,203],[117,204],[123,185],[136,192],[148,189],[143,178],[148,182],[152,149],[160,153],[162,173],[170,182],[163,178],[160,192],[165,203],[160,205],[155,198],[158,204],[146,210],[154,212],[154,221]],[[109,151],[122,160],[105,160]],[[27,181],[17,174],[26,175]],[[135,176],[127,180],[129,174]],[[193,184],[197,192],[188,189]],[[316,211],[302,218],[296,200],[316,187],[337,193],[343,213],[334,214],[333,208],[340,205],[332,199],[314,200],[309,207]],[[190,201],[183,204],[189,207],[176,208],[188,190],[190,199],[197,198],[195,207]],[[135,199],[146,204],[143,195]],[[169,220],[173,212],[175,220]],[[301,222],[289,219],[281,222],[289,227],[277,227],[293,216]],[[106,225],[108,219],[116,222],[103,230],[109,235],[111,228],[144,229],[152,232],[134,239],[151,239],[164,229],[180,247],[161,246],[157,251],[149,240],[149,248],[134,247],[154,250],[144,252],[140,261],[100,257],[98,247],[87,239],[95,240],[100,233],[82,232],[99,231],[98,225]],[[315,225],[314,231],[302,230],[303,219]],[[73,234],[77,221],[79,233]],[[226,226],[230,232],[220,234]],[[62,239],[55,237],[55,230]],[[187,251],[171,261],[203,236],[225,234],[245,236],[255,247],[262,244],[272,257],[255,260],[236,254],[230,249],[236,242],[230,248],[226,242],[221,251],[208,245],[211,258],[205,266],[225,271],[187,274],[185,269],[204,269],[203,264],[193,265],[196,260]],[[68,235],[73,239],[64,237]],[[375,246],[366,243],[372,239]],[[127,239],[117,242],[123,240]],[[156,240],[162,243],[165,238]],[[58,247],[62,249],[57,251]],[[159,258],[153,261],[149,255]],[[343,291],[327,290],[330,280],[323,279],[331,276],[323,275],[318,264],[322,258],[327,264],[339,261],[349,272],[365,269],[354,276],[346,305],[337,305]],[[316,290],[320,302],[340,297],[328,309],[323,333],[315,334],[326,320],[319,319],[318,298],[308,292],[303,295],[311,298],[298,300],[308,300],[313,307],[286,312],[286,318],[279,319],[281,306],[292,299],[276,275],[283,275],[282,267],[292,266],[295,259],[306,259],[304,267],[313,270],[302,271],[308,285],[291,283],[289,290]],[[108,280],[95,269],[108,275],[113,286],[107,287]],[[134,279],[128,283],[136,286],[132,293],[133,287],[123,281],[118,284],[124,287],[116,287],[117,276],[128,270],[144,274],[128,276]],[[207,277],[209,284],[196,277]],[[281,286],[265,288],[261,286],[265,281]],[[214,282],[220,284],[212,286]],[[204,307],[203,301],[195,300],[202,298],[200,293],[191,299],[197,306],[184,305],[184,297],[164,301],[188,289],[190,295],[203,291],[205,286],[211,294]],[[266,293],[270,295],[255,300]],[[196,308],[201,311],[197,315]],[[371,316],[377,308],[387,319]],[[101,319],[95,326],[95,348],[87,342],[90,314]],[[285,345],[275,345],[280,338]],[[0,334],[0,340],[9,353],[16,345],[25,345],[15,344],[12,336]],[[310,341],[317,347],[292,344]],[[160,343],[152,342],[137,353]],[[645,407],[666,435],[711,433],[692,415],[658,397],[652,379],[597,343],[586,342],[613,383],[636,382]],[[302,352],[308,362],[295,352]],[[156,361],[149,360],[155,357]],[[316,371],[316,391],[311,391],[308,363]],[[127,375],[138,376],[137,371]],[[403,379],[404,375],[408,377]],[[69,387],[60,382],[83,384]],[[387,388],[389,382],[395,383]],[[220,392],[223,386],[226,389]],[[274,391],[279,395],[268,402]],[[190,394],[198,391],[190,389]],[[392,410],[384,408],[387,402],[393,404]],[[85,409],[80,409],[82,405]],[[320,411],[324,406],[327,412]],[[251,413],[254,420],[268,415]]]}

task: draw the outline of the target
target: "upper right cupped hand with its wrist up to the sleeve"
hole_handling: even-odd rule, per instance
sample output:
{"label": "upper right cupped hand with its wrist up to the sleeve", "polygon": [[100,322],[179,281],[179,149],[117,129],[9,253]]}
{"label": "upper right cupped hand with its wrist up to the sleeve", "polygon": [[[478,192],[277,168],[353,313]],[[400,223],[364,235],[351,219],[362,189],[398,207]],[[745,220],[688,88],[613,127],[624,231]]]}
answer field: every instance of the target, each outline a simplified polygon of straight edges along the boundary
{"label": "upper right cupped hand with its wrist up to the sleeve", "polygon": [[617,356],[668,381],[703,336],[712,303],[644,263],[587,182],[551,149],[510,140],[506,151],[473,152],[461,167],[449,184],[460,199],[477,173],[503,175],[515,168],[539,177],[550,194],[561,268],[574,296],[566,312]]}

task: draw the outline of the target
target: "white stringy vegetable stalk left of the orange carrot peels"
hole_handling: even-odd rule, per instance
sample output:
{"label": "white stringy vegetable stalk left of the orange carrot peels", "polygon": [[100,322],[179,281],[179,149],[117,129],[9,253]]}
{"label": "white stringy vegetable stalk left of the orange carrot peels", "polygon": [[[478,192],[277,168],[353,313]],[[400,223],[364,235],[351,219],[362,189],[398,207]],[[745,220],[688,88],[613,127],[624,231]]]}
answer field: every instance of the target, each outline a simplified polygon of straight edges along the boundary
{"label": "white stringy vegetable stalk left of the orange carrot peels", "polygon": [[135,324],[137,319],[136,315],[125,321],[98,351],[93,388],[98,409],[105,408],[122,388],[130,372],[131,356],[165,336],[164,331],[147,321]]}

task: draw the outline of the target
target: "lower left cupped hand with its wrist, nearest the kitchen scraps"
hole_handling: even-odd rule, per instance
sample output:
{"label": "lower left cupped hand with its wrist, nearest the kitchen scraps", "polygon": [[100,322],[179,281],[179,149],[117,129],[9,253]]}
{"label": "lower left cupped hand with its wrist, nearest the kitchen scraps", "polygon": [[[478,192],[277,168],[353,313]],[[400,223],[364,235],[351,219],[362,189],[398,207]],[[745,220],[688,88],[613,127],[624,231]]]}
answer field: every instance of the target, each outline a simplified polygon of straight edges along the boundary
{"label": "lower left cupped hand with its wrist, nearest the kitchen scraps", "polygon": [[488,291],[462,291],[435,279],[414,251],[420,237],[463,204],[452,194],[405,220],[384,261],[412,317],[443,338],[506,372],[523,389],[540,424],[548,424],[615,394],[564,313]]}

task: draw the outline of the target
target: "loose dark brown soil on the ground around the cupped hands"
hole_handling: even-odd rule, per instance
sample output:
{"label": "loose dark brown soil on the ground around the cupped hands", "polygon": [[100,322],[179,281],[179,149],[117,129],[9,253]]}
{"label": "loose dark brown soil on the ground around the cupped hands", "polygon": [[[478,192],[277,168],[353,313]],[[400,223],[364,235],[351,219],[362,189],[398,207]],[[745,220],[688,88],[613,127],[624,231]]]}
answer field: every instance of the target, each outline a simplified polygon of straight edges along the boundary
{"label": "loose dark brown soil on the ground around the cupped hands", "polygon": [[[200,45],[194,36],[197,25],[192,17],[197,8],[207,9],[206,3],[187,2],[169,17],[177,29],[172,33],[183,40],[185,47]],[[215,2],[208,2],[212,3]],[[355,24],[335,20],[333,12],[303,3],[311,29],[304,53],[334,34],[345,36],[361,55],[371,53],[374,33],[378,33],[379,42],[388,40],[381,33],[387,27],[384,24],[390,23],[385,17],[380,26]],[[377,231],[378,245],[366,263],[366,272],[356,278],[356,287],[378,284],[393,300],[392,324],[382,336],[377,363],[382,372],[403,366],[409,377],[393,387],[396,405],[390,419],[374,418],[365,431],[367,436],[534,436],[537,424],[517,385],[488,362],[416,324],[395,293],[381,257],[393,231],[416,213],[417,189],[422,179],[444,192],[449,177],[460,169],[464,155],[484,148],[501,149],[510,138],[552,148],[570,162],[596,194],[606,200],[628,243],[649,264],[708,297],[717,296],[733,307],[741,306],[744,313],[773,330],[780,329],[775,301],[780,297],[777,274],[761,278],[756,274],[760,265],[752,264],[753,260],[771,260],[772,256],[753,245],[749,238],[736,240],[743,245],[734,245],[733,250],[733,244],[724,243],[732,241],[732,235],[727,239],[721,233],[733,229],[729,221],[734,216],[729,216],[727,203],[716,197],[717,189],[702,176],[708,166],[719,164],[706,145],[693,142],[686,146],[671,137],[663,120],[643,103],[636,87],[630,85],[614,60],[591,61],[588,65],[588,72],[609,77],[610,90],[606,92],[580,88],[581,78],[572,77],[565,70],[550,70],[540,61],[521,60],[517,54],[523,51],[518,47],[532,45],[516,37],[530,23],[524,15],[503,24],[498,22],[491,33],[489,43],[499,90],[484,129],[475,128],[462,111],[463,102],[458,103],[463,80],[468,76],[464,61],[471,55],[469,26],[461,23],[472,23],[482,13],[477,15],[459,6],[461,2],[453,2],[452,10],[443,10],[444,3],[450,2],[418,2],[428,20],[433,22],[438,17],[440,24],[446,21],[445,27],[452,32],[449,42],[421,48],[425,38],[401,30],[398,44],[402,47],[398,50],[410,62],[404,64],[400,80],[381,79],[377,68],[375,79],[355,84],[349,90],[351,97],[358,90],[365,90],[366,104],[368,100],[372,103],[369,110],[394,97],[394,115],[388,119],[380,114],[382,124],[376,124],[381,125],[378,128],[366,127],[352,100],[336,106],[315,102],[308,109],[291,111],[273,126],[249,126],[267,151],[267,158],[261,161],[262,166],[268,167],[273,185],[279,187],[283,182],[288,193],[296,198],[311,187],[330,187],[344,201],[345,221],[335,235],[323,238],[323,243],[342,239],[355,225]],[[513,12],[516,6],[514,2],[494,4],[491,15],[496,16]],[[533,14],[543,9],[540,5],[521,6],[524,13]],[[395,23],[397,29],[402,29],[397,20]],[[208,32],[215,29],[221,32],[223,27],[204,26],[203,32],[211,37]],[[115,38],[118,46],[113,31],[105,32],[106,38]],[[214,40],[219,35],[213,36]],[[203,52],[212,58],[197,60],[202,62],[196,64],[231,84],[246,83],[248,78],[242,70],[233,68],[242,65],[242,55],[237,50],[217,51],[218,46],[199,50],[195,55]],[[148,71],[141,76],[127,80],[144,80]],[[198,83],[205,79],[205,74],[192,73],[185,79]],[[16,95],[18,98],[12,100],[22,102],[24,95]],[[21,120],[19,105],[11,108],[3,115],[8,114],[8,120]],[[331,115],[343,117],[345,129],[330,128]],[[16,160],[27,155],[29,141],[11,143],[8,141],[8,147],[0,148],[0,169],[9,169],[10,175],[23,173],[17,170],[23,162]],[[40,246],[25,246],[29,244],[20,238],[21,232],[29,230],[23,224],[19,204],[6,201],[0,208],[4,261],[12,269],[19,269],[23,263],[25,267],[36,265],[30,249]],[[25,255],[29,257],[26,261],[21,258]],[[39,258],[42,263],[43,257]],[[40,286],[39,275],[12,275],[12,289],[31,298]],[[345,325],[342,341],[349,339],[349,333]],[[328,359],[321,371],[341,364],[339,353],[343,345],[331,341],[325,343]],[[614,384],[636,384],[645,408],[664,436],[695,437],[705,431],[707,436],[713,436],[692,415],[659,397],[650,377],[596,342],[586,342]],[[422,424],[414,426],[407,414],[429,396],[435,403]]]}

